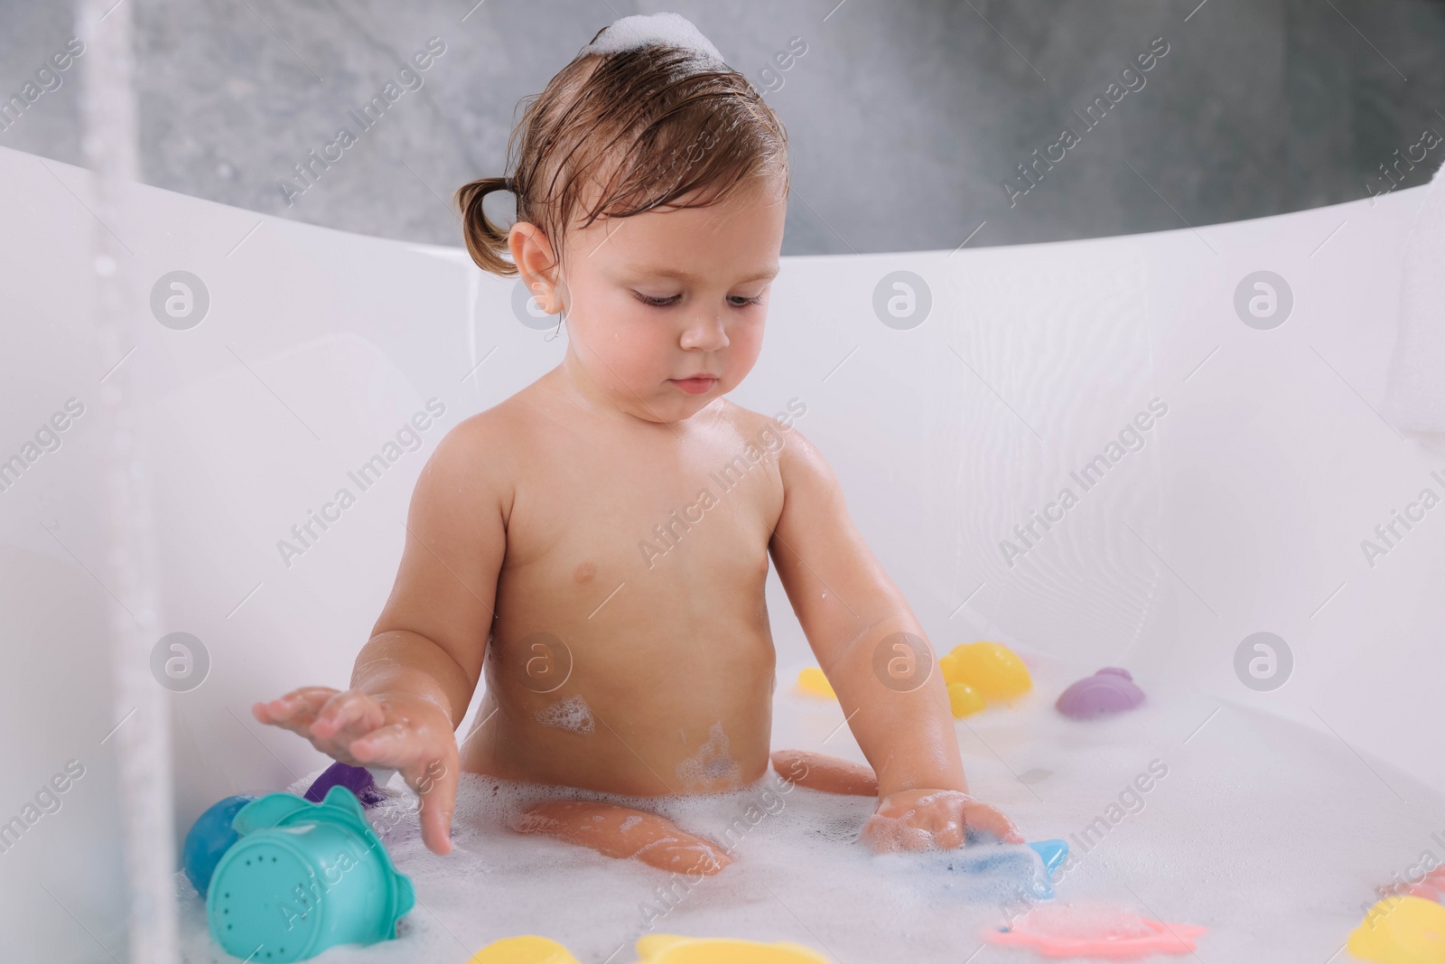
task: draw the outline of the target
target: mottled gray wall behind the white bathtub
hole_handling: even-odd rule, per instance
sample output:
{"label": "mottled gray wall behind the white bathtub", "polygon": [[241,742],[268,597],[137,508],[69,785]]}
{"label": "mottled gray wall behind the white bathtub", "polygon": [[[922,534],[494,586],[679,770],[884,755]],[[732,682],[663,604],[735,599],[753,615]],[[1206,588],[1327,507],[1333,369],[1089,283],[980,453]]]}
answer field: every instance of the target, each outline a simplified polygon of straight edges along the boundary
{"label": "mottled gray wall behind the white bathtub", "polygon": [[[149,184],[439,244],[460,244],[451,192],[503,172],[519,98],[598,27],[659,9],[770,90],[792,147],[786,254],[952,249],[980,224],[971,246],[1280,214],[1381,191],[1396,150],[1445,136],[1442,0],[126,1]],[[68,4],[0,0],[0,94],[72,32]],[[423,85],[363,132],[348,110],[431,36],[445,53]],[[1074,111],[1160,36],[1146,85],[1085,129]],[[764,77],[790,38],[806,53]],[[0,145],[79,163],[84,69],[81,55]],[[342,126],[357,143],[288,202],[277,181],[299,186],[292,165]],[[1065,126],[1077,146],[1010,204],[1004,181]]]}

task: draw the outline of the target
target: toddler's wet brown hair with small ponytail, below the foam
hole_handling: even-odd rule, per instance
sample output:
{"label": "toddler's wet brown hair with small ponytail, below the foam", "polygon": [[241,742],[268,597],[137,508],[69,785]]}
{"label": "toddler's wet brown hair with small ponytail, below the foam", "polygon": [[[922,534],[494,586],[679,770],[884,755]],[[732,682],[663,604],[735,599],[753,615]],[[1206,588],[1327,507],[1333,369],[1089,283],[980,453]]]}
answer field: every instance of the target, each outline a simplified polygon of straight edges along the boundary
{"label": "toddler's wet brown hair with small ponytail, below the foam", "polygon": [[[467,250],[494,275],[519,272],[503,257],[507,228],[483,211],[493,191],[516,195],[517,220],[542,228],[559,263],[578,218],[585,228],[600,217],[707,207],[779,175],[788,194],[782,120],[746,77],[686,48],[582,52],[529,100],[507,145],[507,175],[455,194]],[[588,197],[595,202],[584,211]]]}

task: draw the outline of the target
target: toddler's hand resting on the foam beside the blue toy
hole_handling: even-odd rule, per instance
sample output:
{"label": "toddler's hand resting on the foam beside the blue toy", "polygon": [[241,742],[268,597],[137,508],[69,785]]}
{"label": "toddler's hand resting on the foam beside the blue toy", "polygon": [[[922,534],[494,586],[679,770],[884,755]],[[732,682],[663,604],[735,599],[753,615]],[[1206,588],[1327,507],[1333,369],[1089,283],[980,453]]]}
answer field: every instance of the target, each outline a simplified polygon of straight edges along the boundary
{"label": "toddler's hand resting on the foam beside the blue toy", "polygon": [[962,791],[936,789],[899,791],[884,796],[858,835],[874,853],[925,850],[929,845],[952,850],[964,843],[968,828],[993,834],[1006,844],[1023,843],[1019,828],[1001,811]]}

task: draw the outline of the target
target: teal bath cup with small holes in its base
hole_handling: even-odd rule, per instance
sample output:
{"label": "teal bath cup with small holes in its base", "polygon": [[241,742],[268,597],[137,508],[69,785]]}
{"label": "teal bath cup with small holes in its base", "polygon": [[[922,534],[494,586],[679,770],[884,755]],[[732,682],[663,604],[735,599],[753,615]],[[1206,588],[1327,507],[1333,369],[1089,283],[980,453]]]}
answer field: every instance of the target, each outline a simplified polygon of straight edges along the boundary
{"label": "teal bath cup with small holes in its base", "polygon": [[211,876],[205,916],[237,958],[302,961],[338,944],[386,941],[416,902],[344,786],[321,804],[267,793],[231,825],[240,840]]}

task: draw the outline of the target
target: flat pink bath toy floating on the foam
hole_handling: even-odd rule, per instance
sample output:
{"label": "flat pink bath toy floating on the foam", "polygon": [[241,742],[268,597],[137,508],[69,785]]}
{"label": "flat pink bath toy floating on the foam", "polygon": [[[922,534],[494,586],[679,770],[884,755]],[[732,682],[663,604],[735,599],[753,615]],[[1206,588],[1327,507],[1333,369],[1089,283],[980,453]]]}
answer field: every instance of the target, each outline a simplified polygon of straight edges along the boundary
{"label": "flat pink bath toy floating on the foam", "polygon": [[1012,926],[984,931],[990,944],[1030,948],[1043,957],[1129,961],[1150,954],[1191,954],[1208,928],[1163,924],[1118,908],[1040,905]]}

